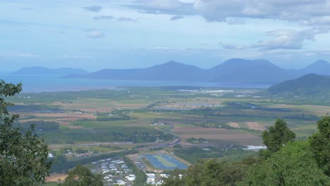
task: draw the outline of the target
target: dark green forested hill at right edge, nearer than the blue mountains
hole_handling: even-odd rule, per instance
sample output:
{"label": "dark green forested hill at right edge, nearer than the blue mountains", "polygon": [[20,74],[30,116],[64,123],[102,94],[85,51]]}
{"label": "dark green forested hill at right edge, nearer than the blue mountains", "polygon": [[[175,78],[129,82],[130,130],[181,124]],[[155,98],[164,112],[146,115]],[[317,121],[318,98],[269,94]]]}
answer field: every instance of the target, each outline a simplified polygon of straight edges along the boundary
{"label": "dark green forested hill at right edge, nearer than the blue mountains", "polygon": [[329,96],[330,76],[307,74],[269,87],[262,94],[277,96]]}

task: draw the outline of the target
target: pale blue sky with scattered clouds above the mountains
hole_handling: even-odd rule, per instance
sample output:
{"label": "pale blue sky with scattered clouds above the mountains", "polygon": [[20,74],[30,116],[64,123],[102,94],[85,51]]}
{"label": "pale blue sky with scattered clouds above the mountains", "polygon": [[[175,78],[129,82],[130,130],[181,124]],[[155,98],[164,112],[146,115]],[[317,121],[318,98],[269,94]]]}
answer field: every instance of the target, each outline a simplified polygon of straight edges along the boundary
{"label": "pale blue sky with scattered clouds above the mountains", "polygon": [[0,71],[330,62],[330,0],[1,0]]}

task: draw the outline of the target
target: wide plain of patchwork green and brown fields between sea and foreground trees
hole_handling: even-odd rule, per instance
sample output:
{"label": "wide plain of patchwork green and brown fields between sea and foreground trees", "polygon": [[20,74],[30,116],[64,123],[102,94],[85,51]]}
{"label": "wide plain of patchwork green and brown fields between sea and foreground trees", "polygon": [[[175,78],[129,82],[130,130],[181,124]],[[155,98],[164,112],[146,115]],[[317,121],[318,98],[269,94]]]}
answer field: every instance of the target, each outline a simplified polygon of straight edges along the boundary
{"label": "wide plain of patchwork green and brown fields between sea and foreground trees", "polygon": [[[184,88],[28,93],[8,101],[17,104],[10,108],[11,113],[20,114],[17,125],[26,128],[28,123],[38,123],[36,133],[61,160],[56,162],[72,161],[72,165],[116,153],[130,154],[129,150],[152,153],[154,149],[190,163],[240,159],[254,154],[243,147],[262,145],[262,131],[276,118],[286,120],[299,140],[315,132],[316,121],[330,112],[330,106],[324,104],[256,97],[253,93],[259,89],[216,92],[219,88]],[[49,122],[54,128],[44,127]],[[160,155],[155,158],[171,164]]]}

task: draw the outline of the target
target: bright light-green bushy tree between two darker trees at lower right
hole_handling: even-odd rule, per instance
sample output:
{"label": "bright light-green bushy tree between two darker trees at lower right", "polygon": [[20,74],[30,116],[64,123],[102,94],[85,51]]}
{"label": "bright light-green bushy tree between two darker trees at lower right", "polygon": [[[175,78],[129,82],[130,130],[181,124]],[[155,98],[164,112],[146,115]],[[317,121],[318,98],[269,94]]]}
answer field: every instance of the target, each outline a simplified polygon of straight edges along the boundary
{"label": "bright light-green bushy tree between two darker trees at lower right", "polygon": [[330,178],[317,166],[307,141],[288,142],[269,159],[253,166],[239,185],[300,186],[330,185]]}

